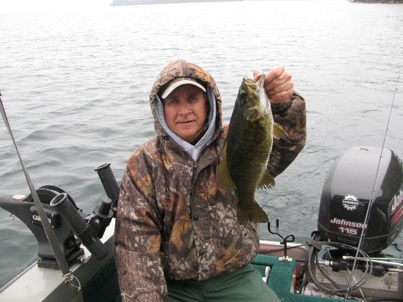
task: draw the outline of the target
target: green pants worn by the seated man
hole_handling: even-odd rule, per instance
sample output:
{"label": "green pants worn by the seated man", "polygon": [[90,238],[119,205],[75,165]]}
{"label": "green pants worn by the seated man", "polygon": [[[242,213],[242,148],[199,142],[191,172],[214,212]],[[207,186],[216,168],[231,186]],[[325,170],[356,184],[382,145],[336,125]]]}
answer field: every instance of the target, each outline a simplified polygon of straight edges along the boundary
{"label": "green pants worn by the seated man", "polygon": [[205,281],[167,281],[169,302],[280,302],[249,263],[236,271]]}

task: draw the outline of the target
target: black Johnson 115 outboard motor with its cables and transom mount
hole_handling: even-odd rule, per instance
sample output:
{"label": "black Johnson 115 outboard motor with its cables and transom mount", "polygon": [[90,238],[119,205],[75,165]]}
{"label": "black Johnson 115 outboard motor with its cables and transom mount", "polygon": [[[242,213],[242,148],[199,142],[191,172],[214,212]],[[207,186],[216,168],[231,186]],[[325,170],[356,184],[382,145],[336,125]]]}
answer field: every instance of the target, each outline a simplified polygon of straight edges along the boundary
{"label": "black Johnson 115 outboard motor with its cables and transom mount", "polygon": [[396,261],[403,259],[380,252],[403,227],[402,195],[403,166],[390,149],[355,146],[337,159],[323,184],[298,292],[401,301],[403,264]]}

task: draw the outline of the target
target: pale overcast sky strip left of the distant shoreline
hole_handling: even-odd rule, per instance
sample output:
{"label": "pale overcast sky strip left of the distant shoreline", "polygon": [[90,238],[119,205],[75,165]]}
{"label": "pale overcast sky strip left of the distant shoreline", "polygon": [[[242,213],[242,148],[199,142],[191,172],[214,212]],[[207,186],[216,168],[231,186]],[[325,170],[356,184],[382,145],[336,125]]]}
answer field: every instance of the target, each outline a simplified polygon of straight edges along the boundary
{"label": "pale overcast sky strip left of the distant shoreline", "polygon": [[105,8],[112,0],[0,0],[0,14],[10,12],[42,12]]}

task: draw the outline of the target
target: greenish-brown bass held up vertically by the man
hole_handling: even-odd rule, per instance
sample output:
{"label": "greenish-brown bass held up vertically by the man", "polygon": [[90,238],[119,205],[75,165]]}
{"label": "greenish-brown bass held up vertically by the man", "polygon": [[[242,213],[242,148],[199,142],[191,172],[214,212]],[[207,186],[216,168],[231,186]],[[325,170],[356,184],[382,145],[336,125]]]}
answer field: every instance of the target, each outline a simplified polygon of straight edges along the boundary
{"label": "greenish-brown bass held up vertically by the man", "polygon": [[239,200],[237,216],[241,224],[268,221],[266,213],[255,201],[255,191],[256,188],[272,188],[275,185],[267,171],[273,136],[287,135],[280,125],[274,123],[263,83],[264,74],[257,82],[243,79],[217,171],[220,187],[236,188]]}

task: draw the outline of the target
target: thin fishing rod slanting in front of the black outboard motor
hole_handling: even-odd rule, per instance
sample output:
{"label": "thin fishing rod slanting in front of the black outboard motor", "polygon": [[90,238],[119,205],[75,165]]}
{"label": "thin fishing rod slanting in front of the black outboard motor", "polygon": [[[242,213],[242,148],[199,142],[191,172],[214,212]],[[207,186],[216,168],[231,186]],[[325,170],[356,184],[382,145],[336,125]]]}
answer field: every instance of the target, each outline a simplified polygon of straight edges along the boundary
{"label": "thin fishing rod slanting in front of the black outboard motor", "polygon": [[359,242],[358,242],[358,249],[356,250],[356,255],[355,255],[355,257],[354,257],[354,263],[353,263],[353,267],[352,267],[352,270],[351,270],[351,273],[350,273],[349,283],[348,283],[348,285],[347,285],[347,291],[346,291],[346,295],[345,295],[345,297],[344,297],[344,302],[347,301],[347,299],[348,299],[348,297],[349,297],[349,295],[350,295],[350,292],[351,292],[351,290],[352,290],[352,288],[351,288],[351,283],[352,283],[353,278],[354,278],[354,272],[355,272],[355,269],[356,269],[356,265],[357,265],[358,258],[359,258],[359,254],[360,254],[360,250],[361,250],[361,248],[362,248],[362,244],[363,244],[363,241],[364,241],[365,233],[366,233],[366,230],[367,230],[367,223],[368,223],[369,214],[370,214],[370,212],[371,212],[372,204],[373,204],[373,202],[374,202],[375,190],[376,190],[376,185],[377,185],[377,182],[378,182],[379,169],[380,169],[380,165],[381,165],[381,161],[382,161],[383,149],[384,149],[384,147],[385,147],[387,132],[388,132],[388,130],[389,130],[389,123],[390,123],[390,118],[391,118],[391,116],[392,116],[392,110],[393,110],[393,105],[394,105],[394,98],[395,98],[395,96],[396,96],[396,91],[397,91],[397,85],[398,85],[398,83],[399,83],[399,78],[400,78],[400,75],[397,77],[397,80],[396,80],[396,87],[395,87],[395,89],[394,89],[393,100],[392,100],[392,104],[391,104],[391,106],[390,106],[389,118],[388,118],[388,121],[387,121],[387,124],[386,124],[385,135],[384,135],[384,137],[383,137],[383,143],[382,143],[381,154],[380,154],[380,156],[379,156],[378,167],[377,167],[376,174],[375,174],[375,181],[374,181],[374,184],[373,184],[373,187],[372,187],[371,198],[370,198],[369,203],[368,203],[368,209],[367,209],[367,212],[366,212],[366,214],[365,214],[364,228],[363,228],[363,230],[362,230],[362,232],[361,232],[360,240],[359,240]]}

